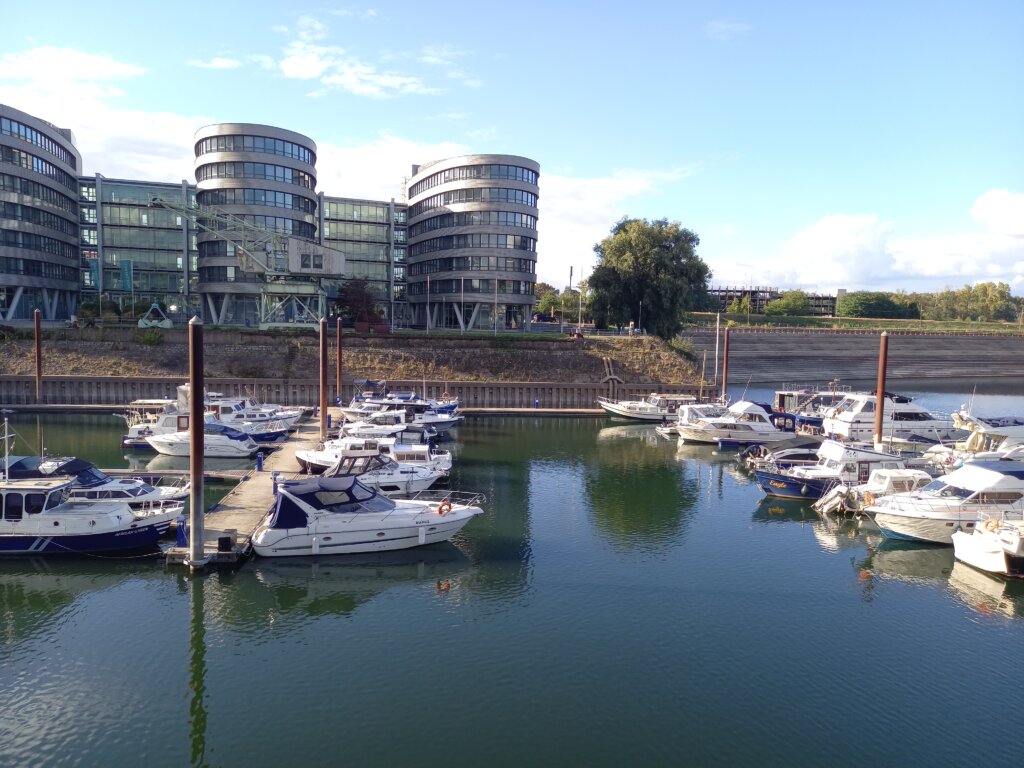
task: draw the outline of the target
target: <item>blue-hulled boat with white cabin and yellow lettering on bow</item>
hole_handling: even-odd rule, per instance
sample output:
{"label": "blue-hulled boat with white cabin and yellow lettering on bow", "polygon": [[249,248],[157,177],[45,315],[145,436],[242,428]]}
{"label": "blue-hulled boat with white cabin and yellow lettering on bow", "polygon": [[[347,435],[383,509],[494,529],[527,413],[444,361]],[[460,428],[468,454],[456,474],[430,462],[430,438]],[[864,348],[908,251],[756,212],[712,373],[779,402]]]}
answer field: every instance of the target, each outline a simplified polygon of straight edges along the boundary
{"label": "blue-hulled boat with white cabin and yellow lettering on bow", "polygon": [[825,440],[818,449],[818,462],[788,469],[760,467],[754,470],[758,485],[769,496],[782,499],[819,499],[834,486],[866,482],[876,469],[902,469],[898,456],[866,446]]}

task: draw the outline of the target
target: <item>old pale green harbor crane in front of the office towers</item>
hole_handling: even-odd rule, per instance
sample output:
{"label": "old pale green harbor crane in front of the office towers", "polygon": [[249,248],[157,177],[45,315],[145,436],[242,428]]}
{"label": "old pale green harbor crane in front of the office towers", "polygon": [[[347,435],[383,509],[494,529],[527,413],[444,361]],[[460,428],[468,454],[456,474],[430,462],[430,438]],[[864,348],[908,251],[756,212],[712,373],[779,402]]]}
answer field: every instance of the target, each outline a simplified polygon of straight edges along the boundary
{"label": "old pale green harbor crane in front of the office towers", "polygon": [[[183,206],[154,198],[152,207],[166,208],[187,218],[207,239],[227,243],[227,253],[239,268],[259,284],[258,323],[261,329],[316,325],[328,313],[325,279],[341,280],[345,255],[341,251],[257,226],[244,215],[213,206]],[[226,293],[204,293],[214,325],[224,325]]]}

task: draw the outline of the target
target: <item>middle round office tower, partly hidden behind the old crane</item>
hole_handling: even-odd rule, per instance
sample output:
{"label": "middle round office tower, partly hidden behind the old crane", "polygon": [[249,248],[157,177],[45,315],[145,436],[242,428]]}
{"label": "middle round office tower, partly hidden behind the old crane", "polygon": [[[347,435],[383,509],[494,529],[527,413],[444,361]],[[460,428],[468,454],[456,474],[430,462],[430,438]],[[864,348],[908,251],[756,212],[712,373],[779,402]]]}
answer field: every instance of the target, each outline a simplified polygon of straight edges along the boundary
{"label": "middle round office tower, partly hidden behind the old crane", "polygon": [[[268,125],[218,123],[196,133],[196,202],[242,217],[247,226],[290,238],[316,239],[316,144],[301,133]],[[212,223],[212,222],[207,222]],[[264,269],[241,258],[227,236],[203,231],[199,245],[199,292],[217,325],[256,325],[268,304],[288,306],[294,295],[270,292]],[[282,258],[267,254],[263,259]],[[282,265],[287,266],[287,265]],[[271,265],[272,267],[272,265]],[[293,319],[281,316],[283,322]]]}

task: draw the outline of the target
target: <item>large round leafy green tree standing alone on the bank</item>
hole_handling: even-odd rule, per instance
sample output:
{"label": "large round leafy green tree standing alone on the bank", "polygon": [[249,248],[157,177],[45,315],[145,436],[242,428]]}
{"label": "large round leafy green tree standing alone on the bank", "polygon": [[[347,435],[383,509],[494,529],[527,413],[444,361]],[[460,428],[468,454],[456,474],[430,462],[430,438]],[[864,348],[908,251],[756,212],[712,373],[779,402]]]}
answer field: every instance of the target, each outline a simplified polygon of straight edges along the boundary
{"label": "large round leafy green tree standing alone on the bank", "polygon": [[696,254],[700,239],[668,219],[624,218],[594,246],[590,308],[599,327],[630,321],[664,339],[683,313],[708,306],[711,269]]}

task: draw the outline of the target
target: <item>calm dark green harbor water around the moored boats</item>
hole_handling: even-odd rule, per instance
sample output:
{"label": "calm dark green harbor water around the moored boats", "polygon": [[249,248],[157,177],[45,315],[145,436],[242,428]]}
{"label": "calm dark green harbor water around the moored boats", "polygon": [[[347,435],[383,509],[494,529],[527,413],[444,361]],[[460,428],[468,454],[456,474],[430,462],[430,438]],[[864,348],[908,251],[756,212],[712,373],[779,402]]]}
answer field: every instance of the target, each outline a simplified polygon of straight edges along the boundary
{"label": "calm dark green harbor water around the moored boats", "polygon": [[[13,423],[127,466],[113,417]],[[198,578],[0,561],[0,764],[1019,762],[1024,585],[764,500],[651,427],[472,419],[450,444],[488,502],[442,546]]]}

